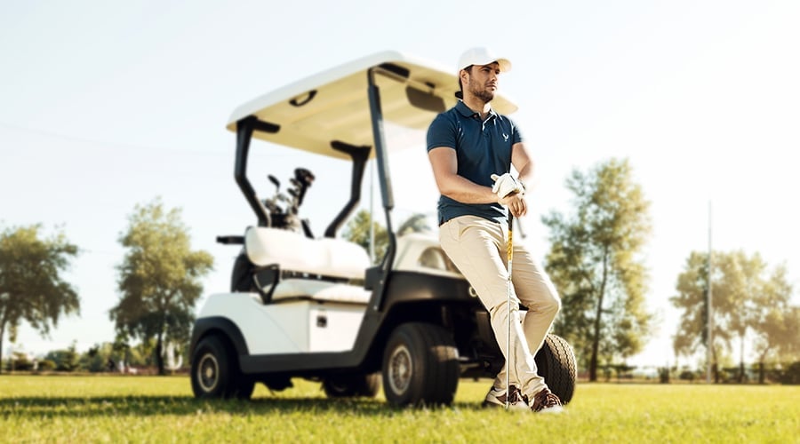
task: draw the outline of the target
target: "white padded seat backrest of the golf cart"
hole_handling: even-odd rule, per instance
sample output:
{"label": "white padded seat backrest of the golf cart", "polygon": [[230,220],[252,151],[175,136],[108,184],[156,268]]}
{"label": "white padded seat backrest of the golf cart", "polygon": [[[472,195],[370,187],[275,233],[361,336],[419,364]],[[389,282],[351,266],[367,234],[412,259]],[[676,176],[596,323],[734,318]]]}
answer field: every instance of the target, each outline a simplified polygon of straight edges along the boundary
{"label": "white padded seat backrest of the golf cart", "polygon": [[256,266],[277,264],[281,270],[346,279],[364,279],[370,258],[360,245],[344,239],[309,239],[277,228],[251,226],[244,250]]}

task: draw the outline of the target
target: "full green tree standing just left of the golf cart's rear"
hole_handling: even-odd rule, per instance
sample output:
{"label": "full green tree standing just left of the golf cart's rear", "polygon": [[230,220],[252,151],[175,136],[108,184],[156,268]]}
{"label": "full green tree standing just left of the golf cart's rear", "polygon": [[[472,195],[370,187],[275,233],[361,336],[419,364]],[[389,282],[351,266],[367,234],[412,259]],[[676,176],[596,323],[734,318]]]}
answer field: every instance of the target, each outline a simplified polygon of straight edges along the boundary
{"label": "full green tree standing just left of the golf cart's rear", "polygon": [[212,269],[213,258],[190,249],[180,210],[165,210],[160,198],[136,205],[129,223],[119,239],[128,249],[117,267],[122,295],[109,317],[118,336],[155,339],[154,358],[164,375],[164,345],[188,342],[194,307],[203,292],[200,278]]}

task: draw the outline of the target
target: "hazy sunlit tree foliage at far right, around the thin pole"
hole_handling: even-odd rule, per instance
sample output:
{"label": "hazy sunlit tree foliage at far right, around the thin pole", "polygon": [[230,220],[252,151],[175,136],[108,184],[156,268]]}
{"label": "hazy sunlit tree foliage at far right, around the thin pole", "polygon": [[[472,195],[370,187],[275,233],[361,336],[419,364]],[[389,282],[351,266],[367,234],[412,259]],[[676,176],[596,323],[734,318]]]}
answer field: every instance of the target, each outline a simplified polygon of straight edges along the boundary
{"label": "hazy sunlit tree foliage at far right, around the thin pole", "polygon": [[771,354],[791,356],[797,349],[796,307],[790,306],[792,287],[786,268],[778,266],[770,274],[757,253],[714,251],[710,274],[713,338],[708,345],[708,265],[708,253],[693,251],[678,275],[677,294],[670,299],[682,311],[674,339],[676,354],[688,356],[710,346],[712,365],[719,369],[720,353],[732,353],[738,345],[741,381],[745,346],[752,338],[763,380],[764,361]]}

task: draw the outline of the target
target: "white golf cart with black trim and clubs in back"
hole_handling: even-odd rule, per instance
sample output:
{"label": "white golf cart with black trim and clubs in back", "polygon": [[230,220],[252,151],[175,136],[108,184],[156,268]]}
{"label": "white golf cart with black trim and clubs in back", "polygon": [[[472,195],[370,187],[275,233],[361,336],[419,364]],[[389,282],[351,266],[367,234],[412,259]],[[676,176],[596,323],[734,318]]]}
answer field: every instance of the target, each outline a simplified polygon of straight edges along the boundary
{"label": "white golf cart with black trim and clubs in back", "polygon": [[[392,405],[450,404],[460,377],[494,377],[504,365],[489,315],[441,250],[435,234],[397,236],[387,129],[424,131],[455,104],[450,70],[381,52],[292,83],[236,108],[236,183],[257,219],[244,235],[229,293],[207,298],[189,356],[196,397],[249,399],[255,383],[280,391],[292,378],[320,381],[332,398],[375,396],[380,377]],[[516,110],[497,97],[492,106]],[[294,148],[352,164],[342,208],[315,236],[299,208],[315,174],[294,171],[288,194],[261,199],[247,175],[251,142]],[[424,150],[424,139],[392,149]],[[272,147],[275,149],[274,147]],[[365,165],[375,159],[388,231],[374,265],[361,245],[338,238],[360,202]],[[548,335],[536,354],[540,375],[564,403],[576,366],[563,338]]]}

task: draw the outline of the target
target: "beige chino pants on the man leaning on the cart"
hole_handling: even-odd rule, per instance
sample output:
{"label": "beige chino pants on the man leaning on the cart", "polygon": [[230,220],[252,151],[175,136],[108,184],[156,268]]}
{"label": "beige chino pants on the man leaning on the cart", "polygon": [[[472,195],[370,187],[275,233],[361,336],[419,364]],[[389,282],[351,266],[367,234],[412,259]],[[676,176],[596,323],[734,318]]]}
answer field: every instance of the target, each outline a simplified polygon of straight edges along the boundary
{"label": "beige chino pants on the man leaning on the cart", "polygon": [[[452,218],[439,227],[439,242],[452,263],[476,290],[478,298],[489,312],[494,337],[506,356],[508,341],[508,268],[506,239],[508,226],[476,216]],[[524,316],[523,331],[528,347],[536,353],[548,329],[561,308],[561,299],[542,266],[531,253],[516,242],[514,245],[514,269],[511,281],[511,319],[519,319],[520,303],[528,307]],[[547,387],[544,378],[531,374],[527,369],[522,347],[512,330],[513,348],[509,381],[532,399],[532,396]],[[506,366],[495,377],[494,386],[506,386]]]}

